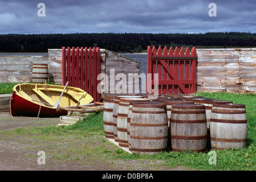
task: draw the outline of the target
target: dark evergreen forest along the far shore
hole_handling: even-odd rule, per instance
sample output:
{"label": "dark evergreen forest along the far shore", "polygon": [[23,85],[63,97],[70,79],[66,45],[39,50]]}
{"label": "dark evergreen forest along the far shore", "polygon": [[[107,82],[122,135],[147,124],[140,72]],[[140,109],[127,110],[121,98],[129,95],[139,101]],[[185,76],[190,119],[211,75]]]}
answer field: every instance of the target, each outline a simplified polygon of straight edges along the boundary
{"label": "dark evergreen forest along the far shore", "polygon": [[62,47],[99,47],[114,52],[143,52],[148,46],[228,48],[256,47],[256,34],[250,32],[207,32],[205,34],[4,34],[0,52],[47,52]]}

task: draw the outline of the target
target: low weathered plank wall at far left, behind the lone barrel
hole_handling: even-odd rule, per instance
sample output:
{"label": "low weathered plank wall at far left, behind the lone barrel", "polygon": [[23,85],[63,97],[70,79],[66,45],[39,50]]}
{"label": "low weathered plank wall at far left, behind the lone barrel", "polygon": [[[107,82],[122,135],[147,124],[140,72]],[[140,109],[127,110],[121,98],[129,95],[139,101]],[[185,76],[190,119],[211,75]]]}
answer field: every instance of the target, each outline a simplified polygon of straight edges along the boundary
{"label": "low weathered plank wall at far left, behind the lone barrel", "polygon": [[33,63],[48,63],[48,56],[0,56],[0,82],[32,81]]}

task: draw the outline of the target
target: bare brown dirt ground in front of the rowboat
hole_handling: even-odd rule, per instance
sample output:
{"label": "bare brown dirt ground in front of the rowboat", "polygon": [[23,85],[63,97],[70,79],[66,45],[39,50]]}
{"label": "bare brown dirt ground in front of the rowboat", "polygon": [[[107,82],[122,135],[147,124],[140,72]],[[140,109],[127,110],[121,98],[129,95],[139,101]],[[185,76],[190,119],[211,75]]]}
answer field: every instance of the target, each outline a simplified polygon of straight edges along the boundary
{"label": "bare brown dirt ground in front of the rowboat", "polygon": [[[32,144],[26,137],[5,136],[5,130],[13,130],[22,127],[38,127],[43,125],[57,125],[59,118],[29,118],[14,117],[9,113],[0,113],[0,171],[127,171],[127,170],[151,170],[148,163],[145,165],[141,161],[115,160],[109,163],[102,163],[99,160],[90,158],[88,162],[54,160],[46,157],[46,164],[38,164],[39,151],[38,145]],[[23,140],[23,141],[22,141]],[[72,138],[72,142],[76,142]],[[64,142],[64,141],[63,141]],[[59,144],[64,144],[59,141]],[[115,147],[109,145],[109,147]],[[56,149],[55,149],[56,150]],[[33,154],[34,156],[31,156]],[[147,164],[146,164],[147,163]],[[156,162],[157,163],[157,162]],[[153,166],[152,164],[151,166]],[[184,171],[185,168],[159,168],[157,170]]]}

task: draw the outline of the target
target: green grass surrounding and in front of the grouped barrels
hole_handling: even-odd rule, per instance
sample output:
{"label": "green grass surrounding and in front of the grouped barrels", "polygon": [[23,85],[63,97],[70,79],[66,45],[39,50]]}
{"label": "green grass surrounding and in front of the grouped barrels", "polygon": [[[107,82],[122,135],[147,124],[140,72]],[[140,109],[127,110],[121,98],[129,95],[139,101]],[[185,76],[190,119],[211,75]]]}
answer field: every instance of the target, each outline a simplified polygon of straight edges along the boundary
{"label": "green grass surrounding and in front of the grouped barrels", "polygon": [[[196,170],[213,171],[255,171],[256,170],[256,96],[255,94],[232,93],[197,93],[198,96],[233,101],[235,104],[245,104],[247,112],[247,144],[245,148],[214,151],[216,164],[210,164],[211,152],[164,152],[159,155],[128,154],[107,142],[104,138],[103,112],[92,113],[88,118],[72,126],[47,126],[2,131],[10,136],[30,137],[34,144],[47,150],[52,159],[94,163],[97,160],[107,165],[124,164],[151,169],[169,169],[185,167]],[[0,133],[1,134],[1,133]],[[59,141],[62,140],[62,143]],[[39,142],[40,141],[40,142]],[[43,142],[42,142],[43,141]],[[54,141],[54,143],[52,143]],[[89,157],[88,157],[89,156]],[[117,162],[118,161],[118,162]],[[135,169],[134,164],[130,169]]]}

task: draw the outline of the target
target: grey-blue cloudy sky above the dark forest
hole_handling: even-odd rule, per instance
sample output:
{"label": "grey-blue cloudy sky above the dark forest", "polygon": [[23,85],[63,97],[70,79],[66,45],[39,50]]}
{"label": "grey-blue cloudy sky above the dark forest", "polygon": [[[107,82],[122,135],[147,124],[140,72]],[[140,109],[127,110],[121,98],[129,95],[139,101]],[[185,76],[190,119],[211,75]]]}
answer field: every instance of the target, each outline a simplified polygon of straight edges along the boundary
{"label": "grey-blue cloudy sky above the dark forest", "polygon": [[256,32],[255,18],[254,0],[0,0],[0,34]]}

